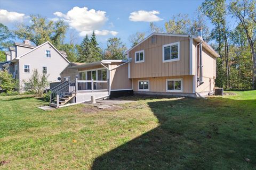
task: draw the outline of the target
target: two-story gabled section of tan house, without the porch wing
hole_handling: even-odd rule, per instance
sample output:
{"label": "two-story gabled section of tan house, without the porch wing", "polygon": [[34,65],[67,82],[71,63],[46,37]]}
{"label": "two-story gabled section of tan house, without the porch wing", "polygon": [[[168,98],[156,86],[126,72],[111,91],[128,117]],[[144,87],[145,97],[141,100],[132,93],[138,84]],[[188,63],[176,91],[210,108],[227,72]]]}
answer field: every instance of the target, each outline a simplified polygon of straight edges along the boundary
{"label": "two-story gabled section of tan house, without the porch wing", "polygon": [[127,57],[135,94],[193,97],[213,91],[219,54],[201,36],[152,33]]}

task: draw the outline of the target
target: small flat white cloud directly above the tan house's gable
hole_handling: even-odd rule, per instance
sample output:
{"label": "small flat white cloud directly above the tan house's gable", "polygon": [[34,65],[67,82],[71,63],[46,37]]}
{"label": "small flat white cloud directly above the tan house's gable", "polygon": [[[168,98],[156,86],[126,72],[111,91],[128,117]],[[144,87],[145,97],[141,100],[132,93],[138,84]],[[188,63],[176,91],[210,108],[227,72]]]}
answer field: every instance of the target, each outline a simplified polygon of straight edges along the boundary
{"label": "small flat white cloud directly above the tan house's gable", "polygon": [[157,16],[159,14],[159,11],[134,11],[130,14],[129,20],[131,21],[144,21],[144,22],[155,22],[155,21],[161,21],[162,18],[159,18]]}

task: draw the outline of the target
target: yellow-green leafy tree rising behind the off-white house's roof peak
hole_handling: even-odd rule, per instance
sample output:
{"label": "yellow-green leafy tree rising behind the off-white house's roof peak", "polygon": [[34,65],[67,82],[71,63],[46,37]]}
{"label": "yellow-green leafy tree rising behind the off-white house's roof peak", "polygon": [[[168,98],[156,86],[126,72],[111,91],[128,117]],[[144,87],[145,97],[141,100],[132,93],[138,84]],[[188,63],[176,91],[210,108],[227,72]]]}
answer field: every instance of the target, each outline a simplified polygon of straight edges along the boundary
{"label": "yellow-green leafy tree rising behind the off-white house's roof peak", "polygon": [[14,31],[18,38],[29,39],[35,45],[50,41],[57,48],[63,44],[68,28],[63,20],[47,22],[46,18],[42,18],[40,15],[30,15],[30,18],[30,25],[20,24]]}

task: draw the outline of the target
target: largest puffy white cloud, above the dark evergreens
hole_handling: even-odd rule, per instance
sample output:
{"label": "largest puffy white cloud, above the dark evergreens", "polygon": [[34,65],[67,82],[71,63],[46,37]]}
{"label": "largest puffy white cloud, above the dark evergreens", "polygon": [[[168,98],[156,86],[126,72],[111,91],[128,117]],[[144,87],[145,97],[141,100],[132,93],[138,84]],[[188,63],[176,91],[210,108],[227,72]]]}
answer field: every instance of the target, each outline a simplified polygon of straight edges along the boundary
{"label": "largest puffy white cloud, above the dark evergreens", "polygon": [[[80,36],[95,31],[96,35],[117,35],[116,31],[100,30],[108,20],[105,11],[95,11],[94,9],[88,10],[87,7],[73,7],[67,14],[61,12],[55,12],[55,16],[66,21],[71,28],[76,29]],[[54,18],[52,20],[56,20]]]}

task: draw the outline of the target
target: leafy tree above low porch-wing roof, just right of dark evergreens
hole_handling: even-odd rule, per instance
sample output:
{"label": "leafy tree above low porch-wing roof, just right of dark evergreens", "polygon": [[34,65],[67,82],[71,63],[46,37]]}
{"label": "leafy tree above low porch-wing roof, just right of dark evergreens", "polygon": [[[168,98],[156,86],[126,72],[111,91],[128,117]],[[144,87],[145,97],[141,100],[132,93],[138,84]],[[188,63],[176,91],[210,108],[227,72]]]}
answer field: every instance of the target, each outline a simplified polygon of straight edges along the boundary
{"label": "leafy tree above low porch-wing roof, just right of dark evergreens", "polygon": [[125,59],[125,44],[122,43],[121,38],[109,38],[105,51],[104,59],[107,60],[123,60]]}

